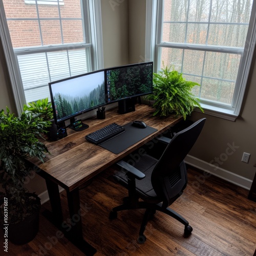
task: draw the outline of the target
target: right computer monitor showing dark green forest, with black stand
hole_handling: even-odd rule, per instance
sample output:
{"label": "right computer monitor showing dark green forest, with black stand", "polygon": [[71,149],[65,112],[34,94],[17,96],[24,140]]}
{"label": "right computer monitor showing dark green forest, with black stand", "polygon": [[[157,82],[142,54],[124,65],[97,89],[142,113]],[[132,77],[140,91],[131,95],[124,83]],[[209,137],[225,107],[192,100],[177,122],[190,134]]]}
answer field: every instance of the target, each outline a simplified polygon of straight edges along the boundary
{"label": "right computer monitor showing dark green forest, with black stand", "polygon": [[153,62],[105,69],[106,101],[118,101],[119,113],[135,110],[138,96],[153,92]]}

